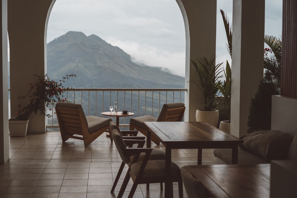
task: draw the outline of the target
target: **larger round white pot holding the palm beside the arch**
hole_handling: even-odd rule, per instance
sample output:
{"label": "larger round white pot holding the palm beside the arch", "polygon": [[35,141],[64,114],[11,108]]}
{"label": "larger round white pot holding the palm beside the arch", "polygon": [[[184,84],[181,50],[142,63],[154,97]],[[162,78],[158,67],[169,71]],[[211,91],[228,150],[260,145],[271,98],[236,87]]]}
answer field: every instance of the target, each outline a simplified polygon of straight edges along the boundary
{"label": "larger round white pot holding the palm beside the arch", "polygon": [[219,123],[219,110],[206,111],[198,109],[196,110],[196,121],[206,122],[217,127]]}

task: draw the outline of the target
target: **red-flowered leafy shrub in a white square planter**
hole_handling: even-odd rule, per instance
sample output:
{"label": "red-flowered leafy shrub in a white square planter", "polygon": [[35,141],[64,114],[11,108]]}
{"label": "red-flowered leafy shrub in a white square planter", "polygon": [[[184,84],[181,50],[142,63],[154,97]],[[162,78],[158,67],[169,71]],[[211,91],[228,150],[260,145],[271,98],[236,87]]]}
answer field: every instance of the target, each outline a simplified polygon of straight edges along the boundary
{"label": "red-flowered leafy shrub in a white square planter", "polygon": [[30,89],[25,96],[18,96],[18,99],[29,99],[29,104],[25,107],[22,107],[18,104],[20,108],[15,112],[16,118],[9,119],[9,131],[10,136],[26,136],[27,128],[29,123],[29,116],[34,112],[37,114],[37,111],[40,110],[40,113],[52,117],[51,114],[46,113],[46,108],[51,104],[56,104],[56,102],[67,101],[63,97],[64,86],[62,83],[65,82],[69,77],[76,76],[75,74],[66,75],[62,80],[58,82],[50,80],[48,75],[38,76],[37,81],[32,84],[30,83]]}

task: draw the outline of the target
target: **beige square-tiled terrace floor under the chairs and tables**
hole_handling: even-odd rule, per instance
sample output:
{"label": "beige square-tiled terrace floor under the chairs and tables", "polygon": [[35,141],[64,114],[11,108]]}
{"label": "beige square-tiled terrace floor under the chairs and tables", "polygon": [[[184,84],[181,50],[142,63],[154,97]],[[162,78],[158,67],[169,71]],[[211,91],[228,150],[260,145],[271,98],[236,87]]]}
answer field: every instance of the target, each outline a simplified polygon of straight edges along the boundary
{"label": "beige square-tiled terrace floor under the chairs and tables", "polygon": [[[59,132],[10,137],[10,160],[0,164],[0,197],[116,197],[120,184],[110,193],[121,159],[110,138],[102,134],[89,146],[81,140],[61,141]],[[163,145],[152,145],[164,149]],[[196,149],[176,149],[172,160],[179,167],[197,164]],[[213,149],[204,149],[202,164],[216,164]],[[127,172],[127,168],[124,169]],[[127,197],[132,181],[123,197]],[[178,197],[177,184],[173,186]],[[164,197],[159,184],[151,184],[149,191],[139,185],[134,197]],[[187,197],[184,191],[184,197]]]}

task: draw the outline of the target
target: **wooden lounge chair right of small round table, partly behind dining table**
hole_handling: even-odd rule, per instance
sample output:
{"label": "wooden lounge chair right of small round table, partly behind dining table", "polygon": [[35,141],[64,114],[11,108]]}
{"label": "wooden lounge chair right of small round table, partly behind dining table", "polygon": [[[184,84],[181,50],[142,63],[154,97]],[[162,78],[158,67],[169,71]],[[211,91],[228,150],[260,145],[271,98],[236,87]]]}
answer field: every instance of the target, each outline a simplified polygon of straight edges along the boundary
{"label": "wooden lounge chair right of small round table, partly behind dining table", "polygon": [[[166,103],[160,111],[158,118],[151,115],[145,115],[136,118],[130,118],[130,130],[138,130],[146,136],[146,125],[144,122],[181,122],[184,117],[185,105],[182,102]],[[151,141],[159,145],[160,141],[154,136],[151,136]]]}

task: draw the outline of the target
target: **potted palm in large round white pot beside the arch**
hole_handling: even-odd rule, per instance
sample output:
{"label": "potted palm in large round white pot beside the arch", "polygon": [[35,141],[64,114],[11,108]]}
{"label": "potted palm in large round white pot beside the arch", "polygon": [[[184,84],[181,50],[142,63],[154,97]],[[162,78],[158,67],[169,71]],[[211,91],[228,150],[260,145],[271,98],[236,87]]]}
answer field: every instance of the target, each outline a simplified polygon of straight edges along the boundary
{"label": "potted palm in large round white pot beside the arch", "polygon": [[204,109],[196,110],[196,121],[206,122],[213,126],[217,126],[219,122],[219,111],[214,108],[217,106],[217,93],[219,91],[217,84],[221,84],[219,68],[222,65],[222,63],[215,65],[215,60],[215,56],[210,59],[200,57],[197,58],[197,62],[191,60],[200,80],[189,80],[198,86],[203,97]]}

